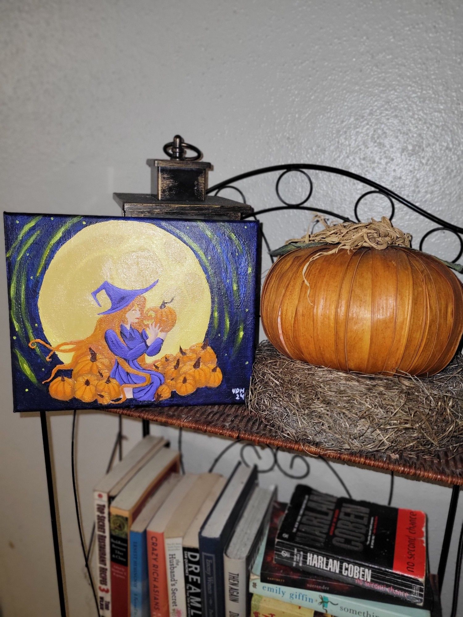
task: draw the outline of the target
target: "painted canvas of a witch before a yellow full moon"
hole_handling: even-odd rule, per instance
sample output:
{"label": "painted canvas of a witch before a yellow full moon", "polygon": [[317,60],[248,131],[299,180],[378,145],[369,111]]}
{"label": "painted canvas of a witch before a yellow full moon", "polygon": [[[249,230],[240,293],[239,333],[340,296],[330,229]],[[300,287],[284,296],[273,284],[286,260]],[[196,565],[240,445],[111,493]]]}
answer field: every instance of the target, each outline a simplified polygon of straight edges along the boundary
{"label": "painted canvas of a witch before a yellow full moon", "polygon": [[243,403],[257,222],[4,225],[15,411]]}

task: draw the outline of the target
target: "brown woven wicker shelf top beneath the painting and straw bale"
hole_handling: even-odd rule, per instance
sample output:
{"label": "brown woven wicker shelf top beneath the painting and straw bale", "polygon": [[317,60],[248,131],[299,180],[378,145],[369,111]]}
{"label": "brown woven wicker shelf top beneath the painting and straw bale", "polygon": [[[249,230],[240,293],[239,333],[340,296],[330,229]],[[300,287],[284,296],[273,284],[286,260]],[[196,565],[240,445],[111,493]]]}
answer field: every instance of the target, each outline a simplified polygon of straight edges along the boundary
{"label": "brown woven wicker shelf top beneath the painting and straw bale", "polygon": [[281,439],[272,429],[259,423],[257,416],[251,415],[245,405],[209,405],[194,407],[157,408],[114,408],[111,413],[142,418],[152,422],[170,424],[179,428],[193,429],[202,433],[222,435],[231,439],[241,439],[254,444],[271,445],[309,455],[323,456],[353,465],[372,469],[394,471],[413,479],[426,479],[445,484],[463,485],[463,452],[449,455],[442,452],[434,458],[407,457],[402,455],[360,455],[351,452],[333,452],[296,442]]}

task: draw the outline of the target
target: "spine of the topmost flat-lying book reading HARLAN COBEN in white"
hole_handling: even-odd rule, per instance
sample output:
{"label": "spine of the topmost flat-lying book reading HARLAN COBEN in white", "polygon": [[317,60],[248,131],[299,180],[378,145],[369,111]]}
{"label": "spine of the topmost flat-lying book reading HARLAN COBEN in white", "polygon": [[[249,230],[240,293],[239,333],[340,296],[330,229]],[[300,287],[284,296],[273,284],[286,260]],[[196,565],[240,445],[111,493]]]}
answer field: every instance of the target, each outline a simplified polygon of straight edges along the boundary
{"label": "spine of the topmost flat-lying book reading HARLAN COBEN in white", "polygon": [[384,594],[402,597],[406,602],[418,605],[423,603],[424,581],[412,576],[403,576],[371,565],[367,567],[342,557],[329,557],[281,540],[277,540],[275,544],[275,562],[336,581],[354,583]]}

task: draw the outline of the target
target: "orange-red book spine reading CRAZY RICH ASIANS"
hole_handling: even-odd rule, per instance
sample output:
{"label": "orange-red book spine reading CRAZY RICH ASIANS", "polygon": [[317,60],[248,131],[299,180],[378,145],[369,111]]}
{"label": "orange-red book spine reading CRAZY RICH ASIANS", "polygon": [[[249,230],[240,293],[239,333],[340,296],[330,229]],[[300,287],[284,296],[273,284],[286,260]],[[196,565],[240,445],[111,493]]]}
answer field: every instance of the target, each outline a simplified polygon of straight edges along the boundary
{"label": "orange-red book spine reading CRAZY RICH ASIANS", "polygon": [[169,593],[165,569],[164,534],[146,532],[148,553],[149,610],[151,617],[169,617]]}

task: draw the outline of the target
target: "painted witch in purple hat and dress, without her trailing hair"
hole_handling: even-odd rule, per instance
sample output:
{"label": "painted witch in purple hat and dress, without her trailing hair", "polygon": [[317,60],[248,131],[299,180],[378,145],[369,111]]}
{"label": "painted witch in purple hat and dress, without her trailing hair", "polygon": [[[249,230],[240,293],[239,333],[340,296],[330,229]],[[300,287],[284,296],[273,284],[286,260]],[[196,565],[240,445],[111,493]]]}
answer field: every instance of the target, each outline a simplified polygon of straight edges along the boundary
{"label": "painted witch in purple hat and dress, without her trailing hair", "polygon": [[[113,322],[113,328],[106,329],[104,340],[115,356],[111,377],[122,386],[127,399],[152,401],[156,390],[164,383],[164,376],[147,368],[143,360],[145,355],[152,357],[159,354],[167,333],[161,332],[161,328],[154,323],[141,331],[136,328],[143,320],[146,306],[146,298],[143,294],[146,294],[156,284],[157,281],[154,281],[144,289],[121,289],[104,281],[91,294],[100,307],[101,304],[96,297],[99,292],[106,292],[111,300],[111,308],[98,313],[99,315],[118,313],[120,317],[119,326]],[[115,328],[119,329],[119,333]],[[141,366],[140,362],[144,366]]]}

